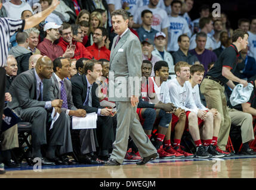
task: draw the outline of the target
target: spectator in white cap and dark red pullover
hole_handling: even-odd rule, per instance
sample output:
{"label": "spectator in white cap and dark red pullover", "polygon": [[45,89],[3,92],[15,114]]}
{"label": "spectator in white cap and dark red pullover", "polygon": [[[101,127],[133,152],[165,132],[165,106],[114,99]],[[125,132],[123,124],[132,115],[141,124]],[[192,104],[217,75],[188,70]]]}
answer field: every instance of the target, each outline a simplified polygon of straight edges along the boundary
{"label": "spectator in white cap and dark red pullover", "polygon": [[58,57],[71,58],[73,56],[72,49],[63,50],[60,46],[54,44],[54,41],[57,40],[60,35],[58,30],[62,29],[62,27],[63,26],[57,25],[56,23],[46,23],[44,31],[46,31],[47,36],[44,38],[44,41],[37,46],[41,55],[48,56],[52,61]]}

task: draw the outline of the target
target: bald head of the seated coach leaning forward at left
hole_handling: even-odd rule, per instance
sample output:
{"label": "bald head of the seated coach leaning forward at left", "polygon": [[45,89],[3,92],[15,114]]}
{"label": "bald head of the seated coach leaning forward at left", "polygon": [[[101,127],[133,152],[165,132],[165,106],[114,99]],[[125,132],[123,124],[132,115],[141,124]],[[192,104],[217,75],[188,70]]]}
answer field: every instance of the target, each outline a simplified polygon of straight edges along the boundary
{"label": "bald head of the seated coach leaning forward at left", "polygon": [[41,79],[50,79],[53,75],[53,61],[48,56],[42,56],[36,62],[36,72]]}

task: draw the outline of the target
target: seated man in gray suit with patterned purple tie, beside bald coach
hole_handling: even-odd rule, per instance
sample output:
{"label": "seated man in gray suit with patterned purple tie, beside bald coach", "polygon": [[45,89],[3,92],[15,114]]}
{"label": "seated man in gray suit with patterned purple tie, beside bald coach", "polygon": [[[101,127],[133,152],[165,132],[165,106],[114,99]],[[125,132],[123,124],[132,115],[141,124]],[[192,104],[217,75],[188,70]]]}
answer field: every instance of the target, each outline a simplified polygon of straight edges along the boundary
{"label": "seated man in gray suit with patterned purple tie, beside bald coach", "polygon": [[71,82],[65,78],[69,76],[71,71],[69,59],[61,57],[54,59],[53,71],[54,74],[51,77],[49,96],[51,100],[63,100],[61,111],[65,113],[65,124],[67,125],[66,127],[64,127],[67,130],[64,131],[64,144],[59,148],[59,154],[61,155],[62,160],[66,160],[69,162],[69,164],[72,164],[72,162],[69,161],[68,157],[66,155],[63,155],[66,153],[71,153],[73,151],[69,129],[70,116],[85,117],[86,111],[84,109],[77,109],[73,105],[72,85]]}

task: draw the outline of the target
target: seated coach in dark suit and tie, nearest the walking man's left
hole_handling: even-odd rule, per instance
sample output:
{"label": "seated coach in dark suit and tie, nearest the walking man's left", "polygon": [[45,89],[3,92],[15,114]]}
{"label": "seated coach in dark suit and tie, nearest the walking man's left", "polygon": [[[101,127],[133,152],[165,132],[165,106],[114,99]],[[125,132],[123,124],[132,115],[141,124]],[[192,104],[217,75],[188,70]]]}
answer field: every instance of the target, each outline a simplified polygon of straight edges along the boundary
{"label": "seated coach in dark suit and tie, nearest the walking man's left", "polygon": [[[100,150],[98,155],[101,159],[107,160],[109,152],[112,150],[113,137],[113,124],[110,116],[112,115],[112,109],[107,109],[100,106],[100,102],[97,94],[98,85],[95,81],[102,75],[102,67],[99,61],[92,59],[85,65],[85,74],[79,77],[71,78],[72,83],[72,96],[73,103],[78,109],[84,109],[87,113],[95,112],[98,115],[97,118],[97,135],[95,144],[88,146],[86,132],[88,129],[81,130],[81,153],[87,154],[95,151],[95,146],[99,144]],[[90,130],[95,132],[95,130]],[[90,134],[93,138],[93,134]],[[92,141],[91,141],[92,143]]]}

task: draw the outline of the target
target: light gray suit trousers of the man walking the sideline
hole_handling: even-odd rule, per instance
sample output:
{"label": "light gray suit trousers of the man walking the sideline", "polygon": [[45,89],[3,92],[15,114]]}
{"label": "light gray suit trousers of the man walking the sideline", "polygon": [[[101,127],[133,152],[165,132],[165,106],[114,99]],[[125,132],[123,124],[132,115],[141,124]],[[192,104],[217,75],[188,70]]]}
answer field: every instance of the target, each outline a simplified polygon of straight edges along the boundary
{"label": "light gray suit trousers of the man walking the sideline", "polygon": [[135,117],[137,106],[132,107],[130,102],[116,102],[116,114],[118,125],[116,128],[116,140],[113,143],[113,151],[110,156],[122,163],[127,153],[129,136],[138,147],[142,157],[157,153],[156,148],[150,142],[143,131],[140,121]]}

